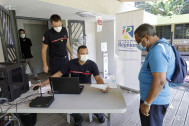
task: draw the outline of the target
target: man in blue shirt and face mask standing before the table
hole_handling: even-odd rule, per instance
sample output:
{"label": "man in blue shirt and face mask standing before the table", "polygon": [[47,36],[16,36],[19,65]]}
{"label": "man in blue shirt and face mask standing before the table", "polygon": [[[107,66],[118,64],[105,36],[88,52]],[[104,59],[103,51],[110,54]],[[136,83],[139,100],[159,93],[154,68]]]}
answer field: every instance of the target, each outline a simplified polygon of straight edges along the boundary
{"label": "man in blue shirt and face mask standing before the table", "polygon": [[153,26],[142,24],[135,30],[138,49],[148,54],[139,73],[140,119],[142,126],[162,126],[171,102],[171,87],[166,81],[175,71],[175,54],[170,44],[156,35]]}

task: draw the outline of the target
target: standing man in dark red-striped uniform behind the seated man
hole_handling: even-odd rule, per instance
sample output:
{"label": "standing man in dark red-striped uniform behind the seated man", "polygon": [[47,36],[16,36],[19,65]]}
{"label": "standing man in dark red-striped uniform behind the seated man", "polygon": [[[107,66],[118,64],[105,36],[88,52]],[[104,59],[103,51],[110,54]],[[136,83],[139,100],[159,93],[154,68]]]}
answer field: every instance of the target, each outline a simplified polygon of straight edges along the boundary
{"label": "standing man in dark red-striped uniform behind the seated man", "polygon": [[[54,14],[50,17],[52,28],[48,30],[43,36],[42,44],[42,60],[43,71],[50,72],[53,75],[60,70],[61,66],[66,64],[68,59],[67,50],[70,53],[70,59],[73,58],[72,50],[68,41],[68,33],[65,27],[62,27],[61,17]],[[47,65],[46,53],[49,47],[49,67]]]}

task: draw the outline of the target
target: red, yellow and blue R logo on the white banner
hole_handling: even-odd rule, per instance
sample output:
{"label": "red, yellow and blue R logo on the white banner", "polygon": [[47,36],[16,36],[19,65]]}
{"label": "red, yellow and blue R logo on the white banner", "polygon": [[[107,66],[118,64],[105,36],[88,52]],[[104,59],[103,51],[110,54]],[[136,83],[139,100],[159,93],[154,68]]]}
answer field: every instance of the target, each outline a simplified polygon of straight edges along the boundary
{"label": "red, yellow and blue R logo on the white banner", "polygon": [[122,38],[123,39],[133,39],[134,37],[134,26],[123,26]]}

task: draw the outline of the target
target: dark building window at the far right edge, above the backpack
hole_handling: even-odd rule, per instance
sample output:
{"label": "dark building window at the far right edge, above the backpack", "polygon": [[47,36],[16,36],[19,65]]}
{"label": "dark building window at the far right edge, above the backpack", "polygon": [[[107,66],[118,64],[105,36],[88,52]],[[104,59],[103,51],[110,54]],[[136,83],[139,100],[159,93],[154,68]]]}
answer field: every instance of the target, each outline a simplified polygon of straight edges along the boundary
{"label": "dark building window at the far right edge, above the backpack", "polygon": [[175,25],[175,39],[189,39],[189,24]]}

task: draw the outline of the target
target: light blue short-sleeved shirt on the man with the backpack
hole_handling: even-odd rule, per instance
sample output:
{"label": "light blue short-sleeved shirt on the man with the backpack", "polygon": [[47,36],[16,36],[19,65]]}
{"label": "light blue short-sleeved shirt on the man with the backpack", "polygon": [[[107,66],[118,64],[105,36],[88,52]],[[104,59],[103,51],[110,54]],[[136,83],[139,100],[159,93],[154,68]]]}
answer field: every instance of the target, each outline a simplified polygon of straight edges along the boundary
{"label": "light blue short-sleeved shirt on the man with the backpack", "polygon": [[[153,81],[153,72],[166,72],[167,78],[170,79],[175,71],[175,54],[173,49],[169,44],[161,41],[167,42],[164,38],[162,38],[157,41],[160,43],[154,46],[157,43],[156,42],[149,48],[148,54],[139,73],[140,96],[143,101],[147,98],[150,91]],[[147,68],[148,63],[150,69]],[[171,87],[166,81],[161,93],[156,97],[152,104],[165,105],[170,102]]]}

